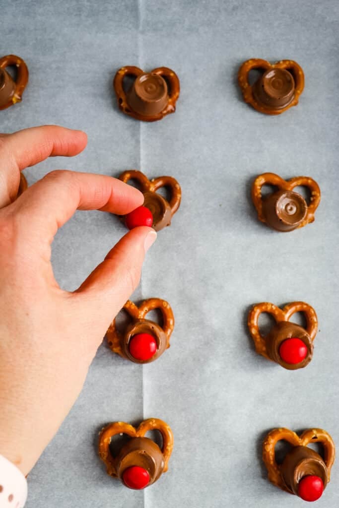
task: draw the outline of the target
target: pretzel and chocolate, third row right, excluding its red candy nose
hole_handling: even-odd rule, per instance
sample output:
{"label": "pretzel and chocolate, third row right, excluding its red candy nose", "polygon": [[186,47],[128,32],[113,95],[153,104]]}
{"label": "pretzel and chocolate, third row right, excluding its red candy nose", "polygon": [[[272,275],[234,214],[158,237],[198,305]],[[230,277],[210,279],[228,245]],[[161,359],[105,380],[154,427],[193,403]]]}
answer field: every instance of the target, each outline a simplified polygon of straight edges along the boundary
{"label": "pretzel and chocolate, third row right, excluding its red candy nose", "polygon": [[[259,316],[262,312],[271,314],[276,322],[265,337],[261,335],[258,325]],[[304,313],[306,329],[294,323],[289,323],[291,316],[295,312]],[[256,352],[268,360],[278,363],[285,369],[300,369],[308,365],[312,360],[313,341],[318,330],[318,320],[315,310],[309,304],[292,302],[283,309],[280,309],[272,303],[259,303],[254,305],[249,312],[248,327],[255,343]],[[299,339],[298,342],[303,343],[304,354],[297,363],[286,361],[282,357],[281,346],[289,339]]]}

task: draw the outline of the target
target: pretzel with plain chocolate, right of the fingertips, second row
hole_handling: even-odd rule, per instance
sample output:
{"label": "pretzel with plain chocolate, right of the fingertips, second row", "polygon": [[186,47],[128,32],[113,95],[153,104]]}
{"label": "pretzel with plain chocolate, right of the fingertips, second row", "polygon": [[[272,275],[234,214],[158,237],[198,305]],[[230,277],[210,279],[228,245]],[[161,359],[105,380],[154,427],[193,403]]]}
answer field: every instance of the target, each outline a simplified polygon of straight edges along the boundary
{"label": "pretzel with plain chocolate, right of the fingertips, second row", "polygon": [[[278,192],[262,198],[263,185],[278,187]],[[299,185],[310,189],[311,203],[308,206],[300,194],[293,192]],[[320,199],[319,185],[309,176],[284,180],[274,173],[263,173],[252,184],[252,200],[259,220],[279,231],[291,231],[312,223]]]}

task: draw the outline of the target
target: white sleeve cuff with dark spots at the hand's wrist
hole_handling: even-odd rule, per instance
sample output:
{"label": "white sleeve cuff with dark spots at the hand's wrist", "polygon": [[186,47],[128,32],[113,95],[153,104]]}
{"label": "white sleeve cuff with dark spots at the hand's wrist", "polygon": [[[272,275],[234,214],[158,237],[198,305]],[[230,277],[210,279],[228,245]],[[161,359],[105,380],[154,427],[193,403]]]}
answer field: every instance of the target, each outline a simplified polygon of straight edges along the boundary
{"label": "white sleeve cuff with dark spots at the hand's wrist", "polygon": [[0,455],[0,508],[23,508],[27,481],[22,472]]}

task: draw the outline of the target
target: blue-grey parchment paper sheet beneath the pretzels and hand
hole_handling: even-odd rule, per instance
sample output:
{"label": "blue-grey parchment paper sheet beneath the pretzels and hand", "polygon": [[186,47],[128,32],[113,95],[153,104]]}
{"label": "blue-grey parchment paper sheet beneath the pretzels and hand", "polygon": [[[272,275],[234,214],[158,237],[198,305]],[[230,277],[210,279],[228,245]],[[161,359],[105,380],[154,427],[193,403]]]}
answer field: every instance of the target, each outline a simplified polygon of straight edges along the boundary
{"label": "blue-grey parchment paper sheet beneath the pretzels and hand", "polygon": [[[323,427],[339,443],[338,4],[0,6],[1,53],[20,55],[30,72],[23,102],[1,112],[1,131],[57,123],[88,134],[72,160],[26,170],[29,184],[57,168],[114,176],[135,168],[174,176],[182,187],[180,209],[149,251],[134,295],[171,303],[172,346],[144,367],[100,347],[81,396],[29,475],[28,508],[301,505],[267,481],[261,443],[275,426]],[[303,67],[296,108],[270,117],[242,102],[236,73],[251,57]],[[173,68],[181,84],[175,114],[147,124],[120,113],[111,81],[123,65]],[[266,171],[318,181],[314,224],[279,234],[258,222],[250,185]],[[78,287],[124,233],[110,214],[77,212],[53,243],[61,287]],[[316,309],[320,330],[307,368],[287,371],[255,354],[246,314],[265,300]],[[175,447],[168,472],[136,492],[106,475],[97,435],[110,421],[148,417],[171,425]],[[336,506],[338,488],[334,464],[317,506]]]}

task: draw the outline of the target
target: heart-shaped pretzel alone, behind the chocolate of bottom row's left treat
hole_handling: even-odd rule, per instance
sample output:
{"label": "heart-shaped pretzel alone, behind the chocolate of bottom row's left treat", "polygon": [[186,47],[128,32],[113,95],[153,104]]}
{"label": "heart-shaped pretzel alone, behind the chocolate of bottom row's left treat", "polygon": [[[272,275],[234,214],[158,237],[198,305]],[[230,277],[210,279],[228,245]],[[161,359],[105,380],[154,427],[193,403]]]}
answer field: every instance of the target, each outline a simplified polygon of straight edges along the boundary
{"label": "heart-shaped pretzel alone, behind the chocolate of bottom row's left treat", "polygon": [[149,430],[159,430],[163,438],[162,454],[164,456],[164,472],[168,469],[168,461],[173,450],[173,433],[169,425],[163,420],[149,418],[141,422],[136,429],[125,422],[115,422],[102,429],[99,435],[99,456],[107,467],[107,474],[116,477],[116,458],[109,449],[111,439],[116,434],[127,434],[130,437],[144,437]]}

